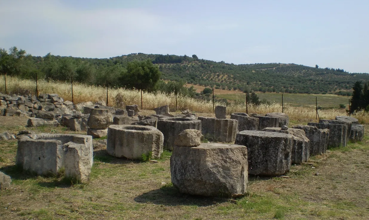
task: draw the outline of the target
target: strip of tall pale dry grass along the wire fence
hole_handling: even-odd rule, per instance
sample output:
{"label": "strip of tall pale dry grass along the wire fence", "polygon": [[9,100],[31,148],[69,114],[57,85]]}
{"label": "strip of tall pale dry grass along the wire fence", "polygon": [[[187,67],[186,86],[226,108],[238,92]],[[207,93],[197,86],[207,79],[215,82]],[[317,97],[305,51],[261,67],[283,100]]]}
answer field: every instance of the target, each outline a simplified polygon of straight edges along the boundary
{"label": "strip of tall pale dry grass along the wire fence", "polygon": [[[17,77],[7,77],[7,92],[8,94],[35,94],[36,84],[34,80],[24,80]],[[39,94],[56,93],[65,100],[72,101],[71,85],[70,83],[59,81],[38,81]],[[0,79],[0,92],[5,92],[4,78]],[[97,102],[99,100],[106,101],[106,88],[100,86],[92,86],[74,83],[73,84],[73,102]],[[108,89],[108,103],[109,106],[122,107],[124,105],[137,104],[141,106],[141,91],[130,90],[125,88],[109,88]],[[158,106],[169,105],[170,109],[176,108],[175,94],[164,94],[162,92],[143,92],[142,93],[142,108],[145,110],[152,110]],[[222,103],[215,102],[214,105],[222,105]],[[290,119],[297,121],[315,120],[315,108],[306,107],[292,107],[284,105],[284,113],[289,115]],[[210,101],[203,101],[177,96],[177,109],[190,109],[196,113],[212,113],[213,103]],[[272,105],[248,105],[248,112],[266,114],[268,112],[280,112],[282,106],[277,103]],[[227,114],[232,112],[246,112],[245,104],[230,104],[227,106]],[[334,119],[337,115],[344,115],[344,112],[339,109],[330,109],[319,111],[320,118]],[[367,113],[358,113],[355,115],[362,122],[369,122],[369,115]]]}

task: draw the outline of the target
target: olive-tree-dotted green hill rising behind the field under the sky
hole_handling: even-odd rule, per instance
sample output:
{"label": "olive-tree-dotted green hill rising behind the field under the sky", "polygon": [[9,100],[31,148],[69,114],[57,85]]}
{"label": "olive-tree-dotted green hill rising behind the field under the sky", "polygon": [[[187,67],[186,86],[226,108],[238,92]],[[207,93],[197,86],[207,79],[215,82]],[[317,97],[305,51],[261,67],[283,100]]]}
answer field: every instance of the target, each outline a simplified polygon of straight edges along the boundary
{"label": "olive-tree-dotted green hill rising behind the field under the sky", "polygon": [[369,74],[342,69],[315,68],[294,63],[233,64],[198,59],[196,55],[147,55],[132,53],[111,57],[115,63],[151,59],[160,67],[164,80],[184,80],[194,85],[221,89],[288,93],[337,93],[351,95],[356,81],[368,81]]}

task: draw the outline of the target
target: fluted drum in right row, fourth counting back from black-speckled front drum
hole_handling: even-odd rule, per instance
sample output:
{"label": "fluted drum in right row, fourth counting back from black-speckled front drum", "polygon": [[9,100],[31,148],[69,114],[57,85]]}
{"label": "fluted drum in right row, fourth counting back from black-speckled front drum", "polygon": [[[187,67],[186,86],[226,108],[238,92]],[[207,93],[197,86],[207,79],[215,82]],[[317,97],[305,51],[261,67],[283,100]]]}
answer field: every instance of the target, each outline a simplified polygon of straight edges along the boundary
{"label": "fluted drum in right row, fourth counting back from black-speckled front drum", "polygon": [[307,125],[316,126],[320,129],[329,129],[328,147],[346,147],[347,146],[347,125],[326,124],[309,122]]}

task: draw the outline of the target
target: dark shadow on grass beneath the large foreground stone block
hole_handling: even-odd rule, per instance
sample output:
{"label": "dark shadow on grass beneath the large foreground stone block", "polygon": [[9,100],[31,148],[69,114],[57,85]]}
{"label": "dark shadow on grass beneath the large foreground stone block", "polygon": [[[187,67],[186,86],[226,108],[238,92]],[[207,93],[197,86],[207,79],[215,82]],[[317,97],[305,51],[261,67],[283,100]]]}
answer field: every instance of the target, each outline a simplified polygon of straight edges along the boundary
{"label": "dark shadow on grass beneath the large foreground stone block", "polygon": [[174,186],[163,186],[160,189],[154,189],[152,191],[142,193],[134,200],[139,203],[154,203],[156,205],[165,206],[211,206],[216,203],[228,202],[228,199],[226,198],[212,198],[183,194],[180,193]]}

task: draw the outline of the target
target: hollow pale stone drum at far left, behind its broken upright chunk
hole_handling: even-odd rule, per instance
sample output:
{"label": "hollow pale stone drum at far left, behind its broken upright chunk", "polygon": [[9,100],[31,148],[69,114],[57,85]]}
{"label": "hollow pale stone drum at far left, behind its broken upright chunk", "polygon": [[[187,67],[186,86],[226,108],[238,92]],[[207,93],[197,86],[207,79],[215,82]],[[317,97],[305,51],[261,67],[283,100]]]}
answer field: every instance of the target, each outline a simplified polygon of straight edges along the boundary
{"label": "hollow pale stone drum at far left, behind its broken upright chunk", "polygon": [[[65,167],[68,142],[83,145],[83,155],[93,163],[92,137],[87,135],[47,134],[24,135],[18,140],[15,164],[38,175],[56,175]],[[84,159],[85,160],[85,159]]]}

